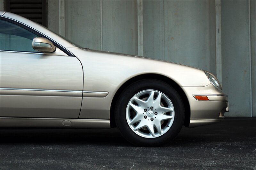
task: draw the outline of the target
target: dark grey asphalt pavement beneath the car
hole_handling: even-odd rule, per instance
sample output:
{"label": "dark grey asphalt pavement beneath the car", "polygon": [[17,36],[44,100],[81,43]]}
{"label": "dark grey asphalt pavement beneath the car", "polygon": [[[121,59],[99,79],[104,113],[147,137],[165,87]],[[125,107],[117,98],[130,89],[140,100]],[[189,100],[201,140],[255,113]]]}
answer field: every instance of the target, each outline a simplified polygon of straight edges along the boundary
{"label": "dark grey asphalt pavement beneath the car", "polygon": [[256,118],[188,129],[136,147],[113,129],[0,130],[0,169],[255,169]]}

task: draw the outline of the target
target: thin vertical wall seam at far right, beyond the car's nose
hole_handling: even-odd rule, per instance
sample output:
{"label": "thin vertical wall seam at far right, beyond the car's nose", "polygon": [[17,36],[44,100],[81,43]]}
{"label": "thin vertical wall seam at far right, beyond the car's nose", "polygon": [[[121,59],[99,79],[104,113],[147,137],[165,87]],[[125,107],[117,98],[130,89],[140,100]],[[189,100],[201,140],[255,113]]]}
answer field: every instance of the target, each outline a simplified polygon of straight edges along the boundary
{"label": "thin vertical wall seam at far right, beyond the car's nose", "polygon": [[248,20],[249,20],[249,67],[250,67],[250,105],[252,117],[252,50],[251,50],[251,2],[248,0]]}

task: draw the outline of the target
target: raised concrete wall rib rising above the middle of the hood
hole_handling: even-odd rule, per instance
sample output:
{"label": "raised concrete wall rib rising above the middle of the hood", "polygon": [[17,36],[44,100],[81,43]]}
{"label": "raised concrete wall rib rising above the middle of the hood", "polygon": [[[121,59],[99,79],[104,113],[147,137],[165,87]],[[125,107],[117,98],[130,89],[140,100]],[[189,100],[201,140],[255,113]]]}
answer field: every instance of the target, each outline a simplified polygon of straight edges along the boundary
{"label": "raised concrete wall rib rising above the middle of the hood", "polygon": [[138,55],[143,56],[143,0],[137,0]]}

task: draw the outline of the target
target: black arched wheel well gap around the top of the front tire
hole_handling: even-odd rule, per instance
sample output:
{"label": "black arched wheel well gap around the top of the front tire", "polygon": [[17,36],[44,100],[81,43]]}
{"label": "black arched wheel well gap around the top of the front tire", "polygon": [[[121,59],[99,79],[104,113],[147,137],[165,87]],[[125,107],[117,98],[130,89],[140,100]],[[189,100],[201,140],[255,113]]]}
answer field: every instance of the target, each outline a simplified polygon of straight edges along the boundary
{"label": "black arched wheel well gap around the top of the front tire", "polygon": [[128,87],[131,83],[138,81],[138,80],[142,80],[142,79],[156,79],[156,80],[160,80],[160,81],[164,81],[168,84],[170,84],[175,90],[177,90],[177,92],[179,93],[179,95],[182,98],[182,101],[184,103],[184,107],[185,107],[185,120],[184,120],[184,125],[186,127],[188,127],[189,122],[190,122],[190,107],[189,107],[189,103],[188,103],[188,98],[185,95],[184,91],[180,88],[180,86],[173,81],[172,79],[164,76],[164,75],[160,75],[160,74],[142,74],[142,75],[138,75],[135,77],[132,77],[131,79],[129,79],[128,81],[126,81],[116,92],[112,103],[111,103],[111,107],[110,107],[110,126],[111,127],[116,127],[116,122],[115,122],[115,104],[116,104],[116,100],[118,99],[118,97],[120,96],[120,94],[122,93],[122,91]]}

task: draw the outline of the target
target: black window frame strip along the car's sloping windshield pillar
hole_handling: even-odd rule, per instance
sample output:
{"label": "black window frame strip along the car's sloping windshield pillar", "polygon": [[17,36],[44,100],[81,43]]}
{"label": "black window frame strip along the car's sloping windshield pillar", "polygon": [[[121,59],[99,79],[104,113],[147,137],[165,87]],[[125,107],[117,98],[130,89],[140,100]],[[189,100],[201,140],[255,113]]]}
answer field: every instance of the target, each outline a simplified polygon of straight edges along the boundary
{"label": "black window frame strip along the car's sloping windshield pillar", "polygon": [[[24,23],[21,23],[21,22],[15,20],[15,19],[12,19],[12,18],[7,18],[7,17],[4,17],[4,16],[0,16],[0,19],[11,22],[13,24],[16,24],[16,25],[18,25],[18,26],[20,26],[20,27],[22,27],[22,28],[24,28],[24,29],[26,29],[26,30],[38,35],[38,36],[40,36],[40,37],[43,37],[43,38],[46,38],[46,39],[50,40],[54,46],[57,46],[61,51],[66,53],[68,56],[75,57],[75,55],[73,53],[71,53],[70,51],[68,51],[65,47],[61,46],[58,42],[54,41],[53,39],[44,35],[43,33],[37,31],[36,29],[34,29],[34,28],[24,24]],[[10,52],[14,52],[14,51],[10,51]],[[30,52],[25,52],[25,53],[30,53]],[[33,52],[31,52],[31,53],[33,53]]]}

